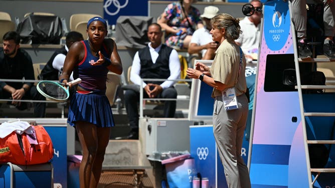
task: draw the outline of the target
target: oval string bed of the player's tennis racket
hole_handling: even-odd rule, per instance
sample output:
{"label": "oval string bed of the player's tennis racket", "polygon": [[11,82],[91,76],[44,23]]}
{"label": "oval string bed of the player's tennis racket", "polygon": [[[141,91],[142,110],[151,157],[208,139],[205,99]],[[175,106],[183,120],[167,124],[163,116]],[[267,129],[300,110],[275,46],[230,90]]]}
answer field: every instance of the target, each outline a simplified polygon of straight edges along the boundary
{"label": "oval string bed of the player's tennis racket", "polygon": [[47,95],[56,98],[56,99],[66,99],[68,97],[65,88],[60,85],[56,85],[53,83],[44,82],[42,84],[38,84],[38,87]]}

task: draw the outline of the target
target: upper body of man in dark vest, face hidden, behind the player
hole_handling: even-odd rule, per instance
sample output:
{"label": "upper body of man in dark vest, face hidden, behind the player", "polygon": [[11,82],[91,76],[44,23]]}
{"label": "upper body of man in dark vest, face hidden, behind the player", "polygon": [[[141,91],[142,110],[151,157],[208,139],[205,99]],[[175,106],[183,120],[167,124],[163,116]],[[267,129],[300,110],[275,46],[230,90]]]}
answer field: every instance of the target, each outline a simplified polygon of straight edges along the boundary
{"label": "upper body of man in dark vest, face hidden, behind the player", "polygon": [[[39,79],[43,80],[58,80],[58,75],[63,70],[64,60],[69,51],[70,46],[76,42],[83,40],[84,37],[80,32],[71,31],[66,35],[66,45],[57,49],[51,56],[47,64],[42,69]],[[73,80],[71,74],[70,80]]]}

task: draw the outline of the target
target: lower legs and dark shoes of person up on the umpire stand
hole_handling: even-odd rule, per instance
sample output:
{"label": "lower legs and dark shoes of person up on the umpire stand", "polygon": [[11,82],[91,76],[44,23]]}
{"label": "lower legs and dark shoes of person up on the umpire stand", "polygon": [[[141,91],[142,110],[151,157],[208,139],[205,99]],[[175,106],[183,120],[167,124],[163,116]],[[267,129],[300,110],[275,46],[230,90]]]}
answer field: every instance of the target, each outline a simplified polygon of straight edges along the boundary
{"label": "lower legs and dark shoes of person up on the umpire stand", "polygon": [[[323,53],[329,59],[335,59],[335,45],[333,36],[335,34],[334,13],[335,5],[333,0],[323,0],[323,23],[324,23],[324,41]],[[297,46],[300,58],[312,57],[312,52],[307,45],[307,10],[306,0],[291,0],[292,21],[297,32]]]}

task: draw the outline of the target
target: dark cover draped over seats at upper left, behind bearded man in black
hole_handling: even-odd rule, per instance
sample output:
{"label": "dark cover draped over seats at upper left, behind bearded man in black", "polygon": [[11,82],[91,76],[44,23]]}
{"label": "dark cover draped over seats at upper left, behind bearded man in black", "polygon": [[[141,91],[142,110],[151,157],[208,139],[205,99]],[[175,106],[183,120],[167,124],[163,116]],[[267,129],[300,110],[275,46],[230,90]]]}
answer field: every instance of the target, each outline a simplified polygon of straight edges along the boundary
{"label": "dark cover draped over seats at upper left, behind bearded man in black", "polygon": [[17,28],[21,43],[59,44],[63,36],[61,18],[56,15],[30,14],[22,20]]}

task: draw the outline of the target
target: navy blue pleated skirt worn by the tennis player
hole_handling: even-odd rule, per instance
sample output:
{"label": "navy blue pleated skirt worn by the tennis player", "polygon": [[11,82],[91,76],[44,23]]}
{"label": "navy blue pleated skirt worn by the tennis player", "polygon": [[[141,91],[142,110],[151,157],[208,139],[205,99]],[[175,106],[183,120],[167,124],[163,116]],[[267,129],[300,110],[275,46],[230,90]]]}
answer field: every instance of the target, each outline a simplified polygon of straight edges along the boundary
{"label": "navy blue pleated skirt worn by the tennis player", "polygon": [[68,123],[74,126],[76,121],[90,122],[98,127],[114,126],[113,113],[107,96],[104,94],[80,94],[76,92],[71,99]]}

